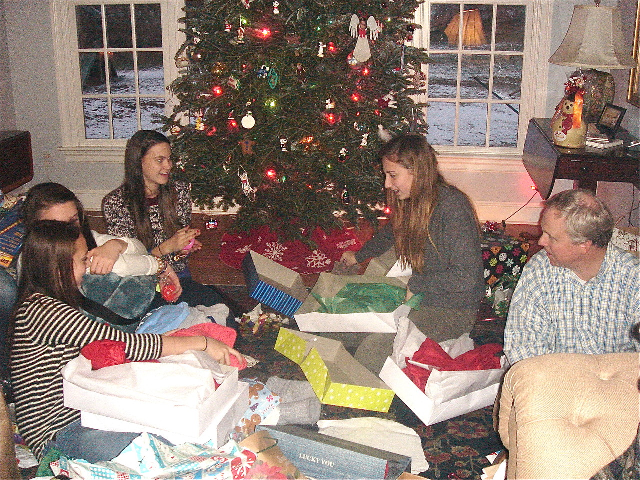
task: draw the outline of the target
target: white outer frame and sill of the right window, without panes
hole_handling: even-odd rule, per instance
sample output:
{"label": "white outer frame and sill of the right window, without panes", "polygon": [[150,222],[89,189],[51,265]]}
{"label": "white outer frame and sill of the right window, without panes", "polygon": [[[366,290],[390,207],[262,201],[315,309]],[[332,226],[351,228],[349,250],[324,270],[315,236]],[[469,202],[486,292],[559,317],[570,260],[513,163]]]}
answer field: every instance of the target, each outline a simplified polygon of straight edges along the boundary
{"label": "white outer frame and sill of the right window, without panes", "polygon": [[[522,93],[520,95],[520,115],[518,125],[518,148],[504,147],[452,147],[436,146],[440,153],[440,160],[454,166],[459,164],[462,170],[483,170],[497,159],[511,160],[500,163],[499,172],[519,172],[522,170],[522,150],[527,135],[529,120],[544,116],[547,106],[547,84],[549,74],[548,51],[551,41],[551,25],[553,2],[548,0],[426,0],[421,4],[415,15],[415,22],[422,26],[416,29],[413,46],[423,47],[429,51],[429,33],[431,31],[431,15],[429,5],[432,3],[447,4],[514,4],[526,5],[527,17],[525,23],[525,49],[522,63]],[[427,67],[423,67],[427,73]],[[420,95],[418,100],[429,102],[426,95]],[[464,100],[466,101],[466,100]],[[429,122],[427,116],[427,123]],[[487,133],[488,134],[488,133]]]}

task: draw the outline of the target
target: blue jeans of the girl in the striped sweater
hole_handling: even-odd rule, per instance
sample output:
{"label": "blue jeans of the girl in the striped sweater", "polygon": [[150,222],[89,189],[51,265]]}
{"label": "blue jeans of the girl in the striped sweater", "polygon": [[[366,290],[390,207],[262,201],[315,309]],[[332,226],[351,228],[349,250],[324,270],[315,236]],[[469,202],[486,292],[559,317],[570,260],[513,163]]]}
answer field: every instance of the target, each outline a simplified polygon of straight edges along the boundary
{"label": "blue jeans of the girl in the striped sweater", "polygon": [[50,442],[45,449],[51,447],[72,458],[82,458],[89,463],[110,461],[120,455],[140,433],[123,433],[115,431],[94,430],[83,427],[81,420],[76,420],[68,427],[56,433],[56,440]]}

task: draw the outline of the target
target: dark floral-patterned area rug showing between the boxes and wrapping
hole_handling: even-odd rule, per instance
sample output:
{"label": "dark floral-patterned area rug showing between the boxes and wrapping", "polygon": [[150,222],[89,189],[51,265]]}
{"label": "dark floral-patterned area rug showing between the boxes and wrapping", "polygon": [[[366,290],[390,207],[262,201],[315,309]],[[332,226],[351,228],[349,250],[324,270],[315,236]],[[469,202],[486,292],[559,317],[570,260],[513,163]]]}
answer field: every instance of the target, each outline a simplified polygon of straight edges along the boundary
{"label": "dark floral-patterned area rug showing between the boxes and wrapping", "polygon": [[[244,286],[218,288],[244,311],[252,310],[258,303],[248,296]],[[265,307],[264,310],[268,311],[268,308]],[[490,317],[488,307],[483,306],[471,333],[476,345],[494,342],[502,344],[505,320],[485,320]],[[295,323],[287,328],[295,329]],[[266,382],[269,377],[275,375],[287,380],[305,380],[298,365],[273,349],[277,336],[277,330],[268,330],[259,339],[238,336],[237,349],[260,362],[252,369],[242,372],[244,378],[257,378]],[[425,426],[397,397],[388,413],[323,405],[323,420],[353,417],[380,417],[415,429],[422,439],[422,446],[429,462],[429,470],[421,476],[429,479],[479,479],[483,468],[490,465],[486,456],[503,448],[499,436],[493,430],[493,407]]]}

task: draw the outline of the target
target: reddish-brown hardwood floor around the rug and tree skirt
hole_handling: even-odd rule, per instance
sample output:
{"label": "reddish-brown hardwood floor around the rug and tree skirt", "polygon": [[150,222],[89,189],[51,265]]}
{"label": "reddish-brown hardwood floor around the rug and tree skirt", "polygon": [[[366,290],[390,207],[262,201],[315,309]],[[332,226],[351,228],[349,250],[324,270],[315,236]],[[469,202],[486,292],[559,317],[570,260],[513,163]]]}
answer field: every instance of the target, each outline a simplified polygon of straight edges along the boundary
{"label": "reddish-brown hardwood floor around the rug and tree skirt", "polygon": [[[90,217],[93,230],[106,233],[102,213],[87,212],[87,214]],[[194,280],[206,285],[244,285],[242,271],[232,269],[220,261],[221,239],[223,234],[230,230],[234,217],[230,215],[214,216],[213,218],[218,220],[218,228],[211,230],[205,228],[203,218],[203,214],[193,214],[193,222],[191,223],[192,227],[202,230],[202,235],[198,239],[204,245],[202,250],[191,255],[189,259],[189,268],[191,268]],[[373,228],[368,224],[360,225],[360,228],[354,228],[353,231],[363,243],[371,239],[374,233]],[[528,235],[534,241],[540,237],[540,229],[537,225],[507,225],[506,234],[519,237],[521,233]],[[538,250],[540,248],[537,244],[531,248],[532,252]],[[316,284],[317,277],[318,274],[302,275],[305,285],[308,287]]]}

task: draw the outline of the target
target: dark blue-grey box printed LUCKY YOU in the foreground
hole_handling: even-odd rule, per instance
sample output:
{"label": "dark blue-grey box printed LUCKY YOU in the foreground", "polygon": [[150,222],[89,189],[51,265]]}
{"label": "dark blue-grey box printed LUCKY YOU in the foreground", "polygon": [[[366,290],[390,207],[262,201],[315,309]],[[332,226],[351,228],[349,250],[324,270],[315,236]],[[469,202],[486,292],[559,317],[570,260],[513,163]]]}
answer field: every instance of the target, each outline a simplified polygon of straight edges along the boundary
{"label": "dark blue-grey box printed LUCKY YOU in the foreground", "polygon": [[411,470],[411,458],[292,425],[256,426],[305,476],[331,480],[393,480]]}

